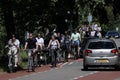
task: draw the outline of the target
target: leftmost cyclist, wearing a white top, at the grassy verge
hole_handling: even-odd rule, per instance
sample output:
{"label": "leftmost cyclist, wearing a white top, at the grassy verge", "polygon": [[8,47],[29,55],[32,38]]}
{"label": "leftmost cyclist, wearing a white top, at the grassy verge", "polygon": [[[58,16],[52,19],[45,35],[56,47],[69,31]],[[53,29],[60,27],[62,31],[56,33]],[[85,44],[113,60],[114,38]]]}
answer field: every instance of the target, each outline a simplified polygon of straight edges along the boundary
{"label": "leftmost cyclist, wearing a white top, at the grassy verge", "polygon": [[12,39],[8,41],[8,47],[9,47],[8,56],[12,55],[13,53],[15,58],[14,67],[18,66],[18,54],[19,54],[19,48],[20,48],[19,45],[20,45],[20,41],[16,39],[15,35],[12,35]]}

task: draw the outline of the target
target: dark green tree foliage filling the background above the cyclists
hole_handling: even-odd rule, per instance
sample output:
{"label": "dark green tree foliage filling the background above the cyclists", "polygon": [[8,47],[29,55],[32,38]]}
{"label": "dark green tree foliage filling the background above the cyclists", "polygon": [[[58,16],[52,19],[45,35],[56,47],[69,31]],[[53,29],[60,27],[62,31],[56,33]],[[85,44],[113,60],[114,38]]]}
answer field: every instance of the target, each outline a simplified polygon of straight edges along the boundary
{"label": "dark green tree foliage filling the background above the cyclists", "polygon": [[[44,28],[53,30],[53,24],[59,28],[67,26],[64,29],[68,29],[69,25],[65,23],[65,19],[72,21],[72,26],[80,26],[82,22],[87,21],[88,13],[93,16],[93,21],[97,19],[100,24],[108,25],[110,29],[113,29],[117,21],[117,17],[120,15],[117,3],[119,0],[6,0],[10,3],[12,15],[7,15],[9,18],[13,17],[15,34],[17,34],[20,41],[24,42],[25,32],[33,32],[45,34]],[[69,3],[69,4],[68,4]],[[0,3],[0,39],[4,45],[6,42],[6,23],[3,17],[4,9],[9,7],[3,6],[4,3]],[[67,12],[70,13],[67,13]],[[11,17],[10,17],[11,16]],[[104,31],[108,29],[108,26],[103,25]],[[12,28],[10,28],[12,30]],[[9,30],[9,31],[10,31]],[[61,28],[60,28],[61,30]],[[4,37],[4,38],[3,38]],[[0,46],[0,51],[2,50]]]}

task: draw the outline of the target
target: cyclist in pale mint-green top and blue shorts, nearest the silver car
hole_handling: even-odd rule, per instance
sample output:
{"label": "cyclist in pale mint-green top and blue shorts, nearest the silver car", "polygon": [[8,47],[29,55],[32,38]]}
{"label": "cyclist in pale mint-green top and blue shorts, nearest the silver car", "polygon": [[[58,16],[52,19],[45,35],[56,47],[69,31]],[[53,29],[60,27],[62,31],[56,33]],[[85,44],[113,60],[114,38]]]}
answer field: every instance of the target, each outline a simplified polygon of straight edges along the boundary
{"label": "cyclist in pale mint-green top and blue shorts, nearest the silver car", "polygon": [[77,54],[76,58],[78,58],[79,50],[80,50],[80,34],[77,32],[77,30],[74,31],[71,35],[72,45],[77,46]]}

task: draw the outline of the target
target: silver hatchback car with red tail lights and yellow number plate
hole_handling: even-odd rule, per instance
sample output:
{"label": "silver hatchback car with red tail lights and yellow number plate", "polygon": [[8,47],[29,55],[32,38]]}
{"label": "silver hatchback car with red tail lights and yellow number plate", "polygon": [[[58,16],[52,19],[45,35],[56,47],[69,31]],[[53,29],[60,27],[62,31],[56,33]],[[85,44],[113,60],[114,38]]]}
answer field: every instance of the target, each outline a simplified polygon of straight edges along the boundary
{"label": "silver hatchback car with red tail lights and yellow number plate", "polygon": [[119,50],[113,40],[91,39],[87,42],[83,52],[83,68],[115,67],[119,68]]}

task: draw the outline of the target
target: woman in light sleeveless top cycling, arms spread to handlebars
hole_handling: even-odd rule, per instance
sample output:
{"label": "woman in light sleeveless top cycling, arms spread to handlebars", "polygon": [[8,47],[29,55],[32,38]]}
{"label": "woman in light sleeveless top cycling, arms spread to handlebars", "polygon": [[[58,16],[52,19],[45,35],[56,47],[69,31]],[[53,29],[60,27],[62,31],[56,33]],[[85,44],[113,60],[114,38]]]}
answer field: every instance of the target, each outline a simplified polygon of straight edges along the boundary
{"label": "woman in light sleeveless top cycling, arms spread to handlebars", "polygon": [[60,48],[60,43],[55,36],[51,37],[47,48],[50,48],[51,65],[56,67],[57,49]]}

